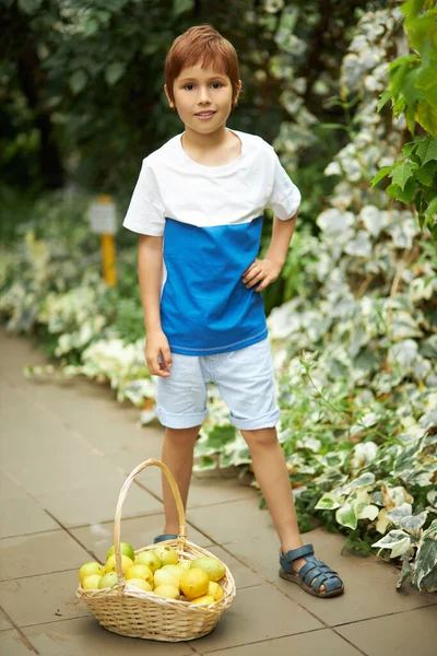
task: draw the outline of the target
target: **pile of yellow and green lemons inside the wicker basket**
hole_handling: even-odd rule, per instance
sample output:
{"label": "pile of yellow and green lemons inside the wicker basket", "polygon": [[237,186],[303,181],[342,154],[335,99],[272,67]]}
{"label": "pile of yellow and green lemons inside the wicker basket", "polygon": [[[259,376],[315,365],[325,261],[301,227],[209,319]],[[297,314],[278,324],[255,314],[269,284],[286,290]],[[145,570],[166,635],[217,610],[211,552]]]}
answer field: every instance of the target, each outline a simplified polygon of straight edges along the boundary
{"label": "pile of yellow and green lemons inside the wicker basket", "polygon": [[[106,564],[91,561],[79,570],[83,590],[114,588],[118,584],[114,546],[106,554]],[[121,567],[126,583],[167,599],[181,599],[201,606],[222,599],[220,585],[225,575],[224,564],[212,557],[180,560],[168,544],[141,551],[135,555],[128,542],[120,542]]]}

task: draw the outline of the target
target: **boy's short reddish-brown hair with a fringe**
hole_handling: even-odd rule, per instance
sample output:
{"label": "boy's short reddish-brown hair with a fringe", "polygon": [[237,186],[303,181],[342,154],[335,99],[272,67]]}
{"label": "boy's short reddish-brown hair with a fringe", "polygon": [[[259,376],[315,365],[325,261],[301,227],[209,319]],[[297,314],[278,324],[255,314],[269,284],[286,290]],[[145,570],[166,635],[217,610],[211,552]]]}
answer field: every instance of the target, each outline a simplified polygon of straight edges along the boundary
{"label": "boy's short reddish-brown hair with a fringe", "polygon": [[173,85],[185,68],[200,63],[202,68],[212,68],[227,75],[233,86],[233,106],[238,95],[238,57],[224,36],[212,25],[197,25],[175,38],[165,58],[164,78],[168,95],[175,102]]}

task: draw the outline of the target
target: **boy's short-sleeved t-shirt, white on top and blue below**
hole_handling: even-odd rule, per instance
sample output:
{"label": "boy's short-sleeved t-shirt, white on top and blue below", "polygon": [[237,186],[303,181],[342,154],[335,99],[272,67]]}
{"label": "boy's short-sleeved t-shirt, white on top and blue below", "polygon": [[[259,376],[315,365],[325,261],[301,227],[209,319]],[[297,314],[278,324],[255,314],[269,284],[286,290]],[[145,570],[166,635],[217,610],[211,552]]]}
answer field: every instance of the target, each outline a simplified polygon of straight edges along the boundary
{"label": "boy's short-sleeved t-shirt, white on top and blue below", "polygon": [[235,351],[268,333],[262,296],[241,276],[258,256],[264,209],[286,221],[300,194],[267,141],[233,132],[241,153],[222,166],[191,160],[182,134],[145,157],[123,221],[164,235],[161,320],[174,353]]}

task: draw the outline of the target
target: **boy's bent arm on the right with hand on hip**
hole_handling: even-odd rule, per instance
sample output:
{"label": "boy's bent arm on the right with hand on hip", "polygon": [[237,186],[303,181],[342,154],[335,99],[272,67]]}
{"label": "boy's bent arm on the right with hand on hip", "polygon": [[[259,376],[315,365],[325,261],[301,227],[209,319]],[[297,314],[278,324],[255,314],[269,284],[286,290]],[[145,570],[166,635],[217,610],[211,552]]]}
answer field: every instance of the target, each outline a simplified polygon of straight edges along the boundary
{"label": "boy's bent arm on the right with hand on hip", "polygon": [[290,242],[296,226],[296,219],[297,212],[286,221],[273,216],[272,238],[264,259],[259,260],[257,258],[243,273],[243,282],[247,289],[258,284],[255,291],[261,292],[276,280],[285,262]]}

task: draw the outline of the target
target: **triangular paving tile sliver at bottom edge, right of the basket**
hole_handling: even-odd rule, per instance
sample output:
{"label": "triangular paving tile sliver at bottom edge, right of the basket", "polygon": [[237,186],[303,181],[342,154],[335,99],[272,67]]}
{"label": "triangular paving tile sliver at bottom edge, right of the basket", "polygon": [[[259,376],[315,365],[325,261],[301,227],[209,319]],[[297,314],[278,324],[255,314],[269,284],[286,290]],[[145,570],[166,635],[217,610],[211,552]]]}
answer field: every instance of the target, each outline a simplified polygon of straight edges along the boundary
{"label": "triangular paving tile sliver at bottom edge, right of the basket", "polygon": [[[196,643],[193,644],[196,645]],[[320,656],[358,656],[363,652],[355,649],[345,640],[335,635],[333,631],[324,629],[231,649],[218,649],[212,652],[212,654],[214,656],[265,656],[265,654],[273,654],[274,656],[291,656],[291,654],[298,654],[298,656],[315,656],[315,654],[320,654]]]}

